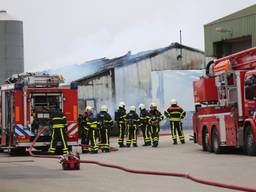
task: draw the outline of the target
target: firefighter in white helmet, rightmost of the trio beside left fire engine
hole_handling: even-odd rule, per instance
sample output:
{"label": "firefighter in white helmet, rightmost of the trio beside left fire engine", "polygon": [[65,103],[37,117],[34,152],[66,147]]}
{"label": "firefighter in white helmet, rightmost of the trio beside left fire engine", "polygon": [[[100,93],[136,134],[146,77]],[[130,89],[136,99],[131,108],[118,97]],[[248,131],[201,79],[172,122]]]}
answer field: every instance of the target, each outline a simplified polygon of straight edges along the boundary
{"label": "firefighter in white helmet, rightmost of the trio beside left fire engine", "polygon": [[109,132],[113,126],[113,120],[108,113],[108,107],[102,105],[97,115],[100,133],[100,147],[102,152],[109,152]]}

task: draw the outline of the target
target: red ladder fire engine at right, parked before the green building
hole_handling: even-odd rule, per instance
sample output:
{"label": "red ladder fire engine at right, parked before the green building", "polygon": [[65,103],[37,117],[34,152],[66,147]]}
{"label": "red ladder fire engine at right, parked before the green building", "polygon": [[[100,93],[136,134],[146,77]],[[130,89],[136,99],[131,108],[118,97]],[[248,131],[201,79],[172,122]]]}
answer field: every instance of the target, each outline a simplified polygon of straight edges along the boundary
{"label": "red ladder fire engine at right, parked before the green building", "polygon": [[194,141],[204,151],[256,155],[256,48],[209,62],[193,94]]}

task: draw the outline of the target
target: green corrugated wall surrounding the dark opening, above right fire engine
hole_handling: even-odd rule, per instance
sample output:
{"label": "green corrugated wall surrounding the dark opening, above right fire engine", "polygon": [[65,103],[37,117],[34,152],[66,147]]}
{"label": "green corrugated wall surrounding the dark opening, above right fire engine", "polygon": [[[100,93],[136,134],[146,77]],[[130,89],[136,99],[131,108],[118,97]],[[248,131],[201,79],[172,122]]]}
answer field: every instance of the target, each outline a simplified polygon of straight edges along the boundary
{"label": "green corrugated wall surrounding the dark opening, above right fire engine", "polygon": [[[216,28],[223,28],[230,30],[231,32],[217,32]],[[244,36],[252,37],[252,46],[256,46],[256,14],[248,15],[245,17],[231,19],[228,21],[220,21],[213,24],[208,24],[204,26],[204,36],[205,36],[205,55],[213,56],[214,47],[213,43],[234,39]]]}

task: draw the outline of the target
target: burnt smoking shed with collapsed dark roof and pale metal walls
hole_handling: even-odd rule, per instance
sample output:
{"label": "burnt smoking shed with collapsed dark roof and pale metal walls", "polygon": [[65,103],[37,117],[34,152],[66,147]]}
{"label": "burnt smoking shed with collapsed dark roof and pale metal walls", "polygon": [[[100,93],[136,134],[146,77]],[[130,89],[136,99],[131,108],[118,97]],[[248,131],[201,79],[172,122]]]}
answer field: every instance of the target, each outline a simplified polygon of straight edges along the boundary
{"label": "burnt smoking shed with collapsed dark roof and pale metal walls", "polygon": [[[203,69],[205,63],[204,52],[179,43],[135,55],[128,52],[121,57],[103,60],[106,62],[97,72],[77,80],[80,112],[86,105],[98,111],[105,104],[113,115],[119,101],[125,101],[127,106],[138,106],[139,103],[148,106],[154,100],[163,109],[170,101],[170,98],[162,97],[164,91],[168,93],[168,90],[162,89],[163,72]],[[158,85],[152,82],[152,78],[160,79]],[[167,86],[166,89],[171,88]],[[160,94],[155,94],[159,91]]]}

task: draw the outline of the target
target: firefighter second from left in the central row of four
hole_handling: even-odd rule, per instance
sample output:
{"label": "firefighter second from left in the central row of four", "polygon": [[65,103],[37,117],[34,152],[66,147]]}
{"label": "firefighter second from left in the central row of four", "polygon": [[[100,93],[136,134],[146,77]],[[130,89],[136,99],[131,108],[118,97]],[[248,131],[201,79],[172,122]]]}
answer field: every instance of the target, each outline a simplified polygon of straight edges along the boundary
{"label": "firefighter second from left in the central row of four", "polygon": [[137,125],[139,123],[139,116],[136,113],[136,107],[134,105],[130,107],[130,112],[126,115],[126,123],[127,123],[126,146],[130,147],[132,143],[133,147],[138,147]]}

